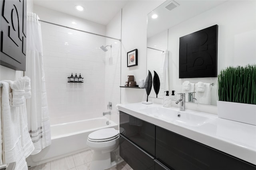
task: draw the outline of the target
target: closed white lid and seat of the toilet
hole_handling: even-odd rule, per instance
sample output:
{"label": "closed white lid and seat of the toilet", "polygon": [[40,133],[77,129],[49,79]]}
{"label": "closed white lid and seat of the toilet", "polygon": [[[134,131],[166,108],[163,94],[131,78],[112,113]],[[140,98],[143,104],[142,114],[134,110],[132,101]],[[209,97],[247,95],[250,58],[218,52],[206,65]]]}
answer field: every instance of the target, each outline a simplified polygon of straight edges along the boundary
{"label": "closed white lid and seat of the toilet", "polygon": [[106,128],[94,131],[88,135],[88,139],[102,140],[115,138],[118,135],[118,131],[114,128]]}

